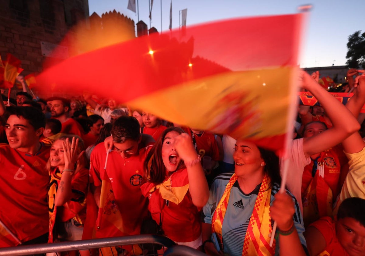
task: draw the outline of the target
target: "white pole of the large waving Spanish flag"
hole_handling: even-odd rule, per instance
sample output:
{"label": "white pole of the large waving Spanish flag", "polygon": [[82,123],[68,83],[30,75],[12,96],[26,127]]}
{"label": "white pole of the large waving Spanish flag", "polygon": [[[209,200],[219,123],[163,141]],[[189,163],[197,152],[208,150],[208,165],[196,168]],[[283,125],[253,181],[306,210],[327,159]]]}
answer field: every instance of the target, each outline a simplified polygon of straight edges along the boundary
{"label": "white pole of the large waving Spanish flag", "polygon": [[[297,10],[299,12],[309,12],[312,8],[312,5],[306,4],[306,5],[300,5]],[[307,16],[307,15],[306,15]],[[292,84],[295,84],[297,81],[297,75],[295,74],[295,77],[292,77]],[[292,86],[291,88],[291,95],[295,95],[297,86]],[[288,150],[289,150],[289,142],[291,140],[291,131],[292,130],[292,120],[295,116],[296,109],[294,108],[296,102],[296,97],[292,97],[292,102],[289,109],[289,115],[288,115],[288,121],[287,121],[287,134],[286,134],[286,142],[285,142],[285,152],[284,152],[284,168],[281,172],[281,184],[280,184],[280,190],[278,193],[284,193],[285,192],[285,184],[287,183],[287,176],[288,176],[288,167],[289,167],[289,159],[288,159]],[[294,99],[295,98],[295,99]],[[275,238],[275,232],[276,232],[277,222],[274,221],[273,231],[271,233],[270,237],[270,247],[273,246],[274,238]]]}

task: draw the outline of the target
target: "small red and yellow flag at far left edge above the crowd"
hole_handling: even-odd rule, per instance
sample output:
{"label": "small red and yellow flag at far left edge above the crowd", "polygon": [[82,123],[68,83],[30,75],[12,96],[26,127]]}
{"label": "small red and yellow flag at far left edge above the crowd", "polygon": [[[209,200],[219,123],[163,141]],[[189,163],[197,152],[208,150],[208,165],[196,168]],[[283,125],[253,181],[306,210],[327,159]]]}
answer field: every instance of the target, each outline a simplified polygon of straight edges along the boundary
{"label": "small red and yellow flag at far left edge above the crowd", "polygon": [[4,65],[4,82],[1,84],[1,88],[12,88],[15,83],[16,77],[23,71],[20,68],[21,61],[16,59],[12,54],[7,53],[6,60],[3,61]]}

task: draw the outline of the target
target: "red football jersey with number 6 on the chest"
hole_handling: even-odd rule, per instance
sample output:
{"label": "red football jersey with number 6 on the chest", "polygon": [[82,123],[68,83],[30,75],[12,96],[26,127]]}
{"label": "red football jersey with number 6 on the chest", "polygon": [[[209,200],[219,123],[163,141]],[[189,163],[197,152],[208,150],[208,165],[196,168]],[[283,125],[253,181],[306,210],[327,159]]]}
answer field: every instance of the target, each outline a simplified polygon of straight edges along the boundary
{"label": "red football jersey with number 6 on the chest", "polygon": [[[35,155],[0,146],[0,220],[22,242],[48,232],[49,152],[43,144]],[[0,247],[14,245],[0,238]]]}

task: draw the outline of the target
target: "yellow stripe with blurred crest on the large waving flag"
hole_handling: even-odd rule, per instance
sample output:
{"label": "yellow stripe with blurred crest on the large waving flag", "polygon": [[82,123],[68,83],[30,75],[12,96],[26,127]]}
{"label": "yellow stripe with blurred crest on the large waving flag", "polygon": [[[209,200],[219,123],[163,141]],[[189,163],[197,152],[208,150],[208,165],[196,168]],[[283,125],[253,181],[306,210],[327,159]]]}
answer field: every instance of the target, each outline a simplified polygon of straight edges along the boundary
{"label": "yellow stripe with blurred crest on the large waving flag", "polygon": [[[281,135],[289,111],[290,81],[283,78],[291,77],[295,70],[295,67],[279,67],[227,72],[172,86],[126,104],[149,109],[173,123],[223,131],[235,138]],[[207,124],[206,120],[211,121]]]}

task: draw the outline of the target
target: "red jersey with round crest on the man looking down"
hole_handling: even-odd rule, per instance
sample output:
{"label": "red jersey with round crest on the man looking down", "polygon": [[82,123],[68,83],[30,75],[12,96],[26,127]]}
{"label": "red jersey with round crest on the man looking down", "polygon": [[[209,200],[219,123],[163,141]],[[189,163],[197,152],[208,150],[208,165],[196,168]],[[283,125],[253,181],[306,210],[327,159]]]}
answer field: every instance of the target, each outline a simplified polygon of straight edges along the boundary
{"label": "red jersey with round crest on the man looking down", "polygon": [[[147,216],[148,202],[140,189],[146,154],[146,148],[142,148],[139,155],[123,159],[120,154],[112,151],[108,156],[106,170],[104,165],[107,154],[104,143],[96,145],[90,157],[90,180],[98,187],[104,178],[110,179],[116,205],[122,215],[124,233],[127,234],[139,234],[142,220]],[[102,227],[97,230],[97,237],[110,236],[101,234],[102,230]]]}

